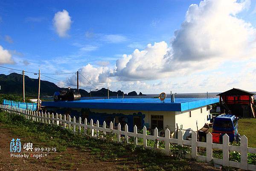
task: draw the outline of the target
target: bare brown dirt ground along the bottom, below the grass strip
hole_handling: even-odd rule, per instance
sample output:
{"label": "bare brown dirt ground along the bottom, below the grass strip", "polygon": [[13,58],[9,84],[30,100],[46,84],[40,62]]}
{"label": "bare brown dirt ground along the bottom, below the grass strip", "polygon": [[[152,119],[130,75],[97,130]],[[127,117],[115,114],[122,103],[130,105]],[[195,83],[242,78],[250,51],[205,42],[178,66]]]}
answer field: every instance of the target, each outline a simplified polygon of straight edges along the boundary
{"label": "bare brown dirt ground along the bottom, below the grass strip", "polygon": [[[125,158],[107,161],[95,160],[90,151],[81,151],[76,148],[67,148],[67,151],[44,153],[39,159],[10,157],[10,141],[16,136],[0,123],[0,171],[124,171],[143,170],[140,163]],[[47,145],[44,145],[47,146]],[[21,153],[22,154],[22,153]],[[29,153],[26,153],[29,154]],[[36,154],[31,152],[31,154]],[[29,154],[30,155],[30,154]],[[134,167],[135,166],[135,167]],[[191,168],[197,171],[219,171],[212,165],[204,162],[192,162]]]}

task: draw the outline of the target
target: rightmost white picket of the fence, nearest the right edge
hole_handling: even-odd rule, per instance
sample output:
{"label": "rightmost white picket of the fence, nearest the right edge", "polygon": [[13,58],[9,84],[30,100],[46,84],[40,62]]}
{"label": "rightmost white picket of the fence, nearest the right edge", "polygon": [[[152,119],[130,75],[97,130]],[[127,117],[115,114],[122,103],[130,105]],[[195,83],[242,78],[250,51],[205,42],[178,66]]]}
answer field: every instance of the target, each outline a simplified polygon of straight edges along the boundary
{"label": "rightmost white picket of the fence, nearest the right edge", "polygon": [[247,140],[247,137],[245,135],[243,135],[241,137],[240,152],[241,152],[240,168],[244,169],[244,170],[248,170],[248,160],[247,160],[248,140]]}

